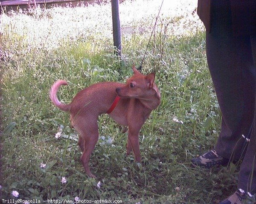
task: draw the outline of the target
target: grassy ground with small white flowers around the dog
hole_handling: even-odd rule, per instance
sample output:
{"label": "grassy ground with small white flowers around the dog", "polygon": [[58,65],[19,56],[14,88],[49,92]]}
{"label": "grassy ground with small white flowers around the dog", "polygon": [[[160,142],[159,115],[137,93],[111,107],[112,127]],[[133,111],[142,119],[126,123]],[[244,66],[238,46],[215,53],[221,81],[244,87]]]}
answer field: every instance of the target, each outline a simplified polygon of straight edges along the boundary
{"label": "grassy ground with small white flowers around the dog", "polygon": [[[113,55],[109,3],[1,15],[0,198],[15,198],[16,190],[18,198],[41,201],[79,197],[169,204],[215,203],[233,193],[236,166],[190,166],[191,158],[214,147],[221,118],[207,69],[204,28],[193,13],[196,0],[165,1],[145,58],[143,73],[156,72],[162,98],[140,132],[142,167],[133,156],[124,157],[126,133],[102,115],[90,159],[97,179],[87,178],[69,115],[49,101],[57,79],[70,83],[60,89],[65,103],[92,83],[125,82],[131,65],[142,60],[159,6],[157,0],[120,4],[122,26],[147,31],[123,35],[120,58]],[[56,139],[60,127],[63,134]]]}

